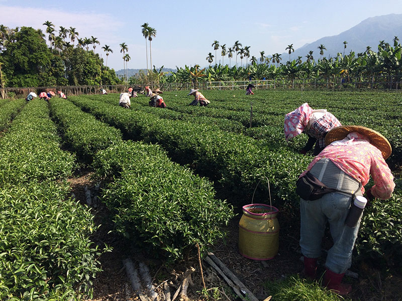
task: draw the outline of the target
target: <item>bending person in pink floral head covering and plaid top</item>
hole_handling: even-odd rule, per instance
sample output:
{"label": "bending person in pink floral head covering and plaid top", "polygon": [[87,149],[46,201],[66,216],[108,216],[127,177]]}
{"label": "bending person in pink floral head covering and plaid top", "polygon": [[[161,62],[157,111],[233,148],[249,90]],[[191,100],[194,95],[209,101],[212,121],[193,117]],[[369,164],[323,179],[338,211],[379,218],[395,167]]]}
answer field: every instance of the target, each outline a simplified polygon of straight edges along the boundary
{"label": "bending person in pink floral head covering and plaid top", "polygon": [[306,102],[285,115],[285,139],[289,140],[300,133],[306,133],[309,140],[305,147],[300,149],[300,154],[305,155],[316,144],[313,155],[317,156],[325,147],[324,139],[327,132],[340,125],[341,122],[333,114],[325,109],[313,110]]}

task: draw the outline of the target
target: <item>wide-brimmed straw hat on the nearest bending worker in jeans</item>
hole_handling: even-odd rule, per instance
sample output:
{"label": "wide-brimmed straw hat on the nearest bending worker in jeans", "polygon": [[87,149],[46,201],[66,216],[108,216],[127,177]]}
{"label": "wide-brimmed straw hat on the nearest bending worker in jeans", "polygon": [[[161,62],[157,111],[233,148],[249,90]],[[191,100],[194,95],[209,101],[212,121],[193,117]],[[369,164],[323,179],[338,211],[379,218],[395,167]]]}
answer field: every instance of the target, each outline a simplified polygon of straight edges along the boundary
{"label": "wide-brimmed straw hat on the nearest bending worker in jeans", "polygon": [[341,125],[331,129],[325,136],[325,144],[329,145],[334,141],[342,140],[351,132],[359,132],[370,139],[370,143],[377,147],[384,159],[391,156],[392,148],[388,140],[379,132],[360,125]]}

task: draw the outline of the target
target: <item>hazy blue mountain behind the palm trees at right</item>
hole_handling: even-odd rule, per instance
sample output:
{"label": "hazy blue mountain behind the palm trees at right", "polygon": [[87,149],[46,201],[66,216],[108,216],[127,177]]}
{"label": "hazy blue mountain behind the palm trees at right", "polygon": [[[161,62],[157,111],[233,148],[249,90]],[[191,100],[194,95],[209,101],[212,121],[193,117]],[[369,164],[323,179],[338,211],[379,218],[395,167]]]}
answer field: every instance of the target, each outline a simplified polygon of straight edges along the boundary
{"label": "hazy blue mountain behind the palm trees at right", "polygon": [[[345,55],[350,51],[354,51],[355,55],[360,52],[365,52],[367,46],[371,50],[378,51],[379,41],[384,41],[393,45],[393,38],[397,36],[402,40],[402,15],[390,14],[385,16],[377,16],[368,18],[351,29],[344,31],[336,36],[324,37],[313,43],[306,44],[294,50],[291,53],[290,59],[294,60],[298,56],[306,60],[306,55],[310,50],[313,51],[313,57],[317,61],[320,58],[320,50],[318,47],[323,44],[327,50],[324,50],[323,57],[336,57],[337,53]],[[346,49],[343,42],[346,41]],[[284,52],[281,55],[282,63],[284,64],[289,59],[289,53]]]}

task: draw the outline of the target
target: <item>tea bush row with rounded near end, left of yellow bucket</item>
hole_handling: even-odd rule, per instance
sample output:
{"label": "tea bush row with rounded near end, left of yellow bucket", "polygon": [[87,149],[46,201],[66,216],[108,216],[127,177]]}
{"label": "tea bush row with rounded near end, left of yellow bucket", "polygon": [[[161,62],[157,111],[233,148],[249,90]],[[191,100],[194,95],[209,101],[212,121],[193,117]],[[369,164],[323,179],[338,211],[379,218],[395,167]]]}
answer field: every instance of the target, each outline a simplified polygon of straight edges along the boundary
{"label": "tea bush row with rounded near end, left of yellow bucket", "polygon": [[[172,163],[159,145],[123,142],[120,131],[68,100],[49,103],[63,133],[69,133],[68,143],[93,159],[96,178],[103,182],[102,201],[125,237],[179,259],[195,243],[206,247],[223,236],[219,227],[233,217],[233,208],[214,199],[211,182]],[[107,137],[102,143],[100,134]]]}

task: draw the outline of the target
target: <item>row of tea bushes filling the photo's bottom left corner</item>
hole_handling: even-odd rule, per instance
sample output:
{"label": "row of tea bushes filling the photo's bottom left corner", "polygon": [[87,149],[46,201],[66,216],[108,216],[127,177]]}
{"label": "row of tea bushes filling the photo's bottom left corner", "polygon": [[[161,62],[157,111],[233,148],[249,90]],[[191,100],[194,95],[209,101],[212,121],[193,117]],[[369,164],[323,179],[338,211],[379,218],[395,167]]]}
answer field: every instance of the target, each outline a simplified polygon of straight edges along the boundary
{"label": "row of tea bushes filling the photo's bottom left corner", "polygon": [[0,139],[0,299],[91,295],[102,253],[87,207],[68,198],[75,159],[60,149],[47,103],[29,102]]}

